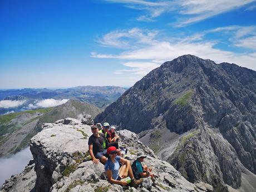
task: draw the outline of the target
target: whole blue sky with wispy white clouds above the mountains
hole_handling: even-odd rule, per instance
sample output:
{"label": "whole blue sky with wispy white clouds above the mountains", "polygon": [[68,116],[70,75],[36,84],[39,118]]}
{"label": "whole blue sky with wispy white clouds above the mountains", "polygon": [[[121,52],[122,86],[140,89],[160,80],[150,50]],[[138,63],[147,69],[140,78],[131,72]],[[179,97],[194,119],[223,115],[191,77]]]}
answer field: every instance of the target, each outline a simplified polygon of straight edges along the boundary
{"label": "whole blue sky with wispy white clouds above the mountains", "polygon": [[0,88],[132,86],[192,54],[256,70],[256,2],[0,2]]}

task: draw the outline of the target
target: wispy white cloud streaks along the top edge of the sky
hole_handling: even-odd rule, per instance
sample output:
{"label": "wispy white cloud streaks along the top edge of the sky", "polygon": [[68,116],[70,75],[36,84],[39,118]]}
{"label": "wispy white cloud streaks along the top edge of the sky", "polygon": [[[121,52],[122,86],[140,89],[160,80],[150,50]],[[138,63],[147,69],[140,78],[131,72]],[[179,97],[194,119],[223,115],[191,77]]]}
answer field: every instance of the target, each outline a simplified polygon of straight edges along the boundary
{"label": "wispy white cloud streaks along the top edge of the sky", "polygon": [[[111,3],[121,3],[132,9],[140,9],[142,16],[139,21],[152,22],[163,13],[173,12],[179,18],[177,27],[186,26],[190,23],[199,22],[206,18],[231,11],[232,9],[245,6],[254,0],[175,0],[175,1],[140,1],[140,0],[105,0]],[[250,9],[254,7],[251,6]]]}

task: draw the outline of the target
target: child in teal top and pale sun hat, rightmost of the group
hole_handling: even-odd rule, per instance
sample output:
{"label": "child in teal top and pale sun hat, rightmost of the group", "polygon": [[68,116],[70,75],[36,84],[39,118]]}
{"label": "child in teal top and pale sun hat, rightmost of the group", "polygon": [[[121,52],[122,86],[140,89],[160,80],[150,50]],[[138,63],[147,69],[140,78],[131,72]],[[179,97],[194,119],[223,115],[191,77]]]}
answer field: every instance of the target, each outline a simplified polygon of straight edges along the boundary
{"label": "child in teal top and pale sun hat, rightmost of the group", "polygon": [[147,168],[147,165],[142,166],[141,164],[146,157],[147,156],[144,155],[143,152],[137,153],[137,159],[131,165],[132,172],[134,173],[136,179],[147,178],[151,176],[151,180],[155,182],[154,174],[151,172],[152,168]]}

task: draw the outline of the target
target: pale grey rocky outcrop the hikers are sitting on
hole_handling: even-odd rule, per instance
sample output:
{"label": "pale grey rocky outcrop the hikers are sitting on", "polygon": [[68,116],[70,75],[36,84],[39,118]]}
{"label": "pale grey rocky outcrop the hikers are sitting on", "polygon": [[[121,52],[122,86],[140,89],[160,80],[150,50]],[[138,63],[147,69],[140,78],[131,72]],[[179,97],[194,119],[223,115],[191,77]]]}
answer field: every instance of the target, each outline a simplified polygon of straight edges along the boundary
{"label": "pale grey rocky outcrop the hikers are sitting on", "polygon": [[138,151],[144,151],[147,155],[145,163],[152,167],[156,175],[154,186],[150,178],[144,179],[137,189],[110,184],[106,180],[104,165],[93,164],[88,155],[89,125],[67,118],[53,124],[43,124],[42,129],[31,139],[33,160],[21,174],[6,180],[1,192],[213,191],[211,185],[187,181],[172,165],[160,160],[149,147],[142,144],[134,132],[118,131],[120,145],[127,147],[127,155],[132,161],[136,159]]}

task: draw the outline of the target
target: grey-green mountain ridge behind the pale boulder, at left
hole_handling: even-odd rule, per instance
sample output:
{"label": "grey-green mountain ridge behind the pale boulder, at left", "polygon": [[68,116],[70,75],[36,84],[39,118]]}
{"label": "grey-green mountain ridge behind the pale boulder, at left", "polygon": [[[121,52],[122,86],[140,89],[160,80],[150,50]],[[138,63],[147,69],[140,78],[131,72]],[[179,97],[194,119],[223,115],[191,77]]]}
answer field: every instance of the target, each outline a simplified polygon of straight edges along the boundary
{"label": "grey-green mountain ridge behind the pale boulder, at left", "polygon": [[15,112],[0,116],[0,157],[16,153],[28,146],[29,140],[41,131],[45,122],[72,117],[81,119],[83,114],[95,117],[100,109],[77,100],[45,109]]}

